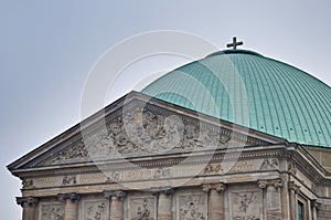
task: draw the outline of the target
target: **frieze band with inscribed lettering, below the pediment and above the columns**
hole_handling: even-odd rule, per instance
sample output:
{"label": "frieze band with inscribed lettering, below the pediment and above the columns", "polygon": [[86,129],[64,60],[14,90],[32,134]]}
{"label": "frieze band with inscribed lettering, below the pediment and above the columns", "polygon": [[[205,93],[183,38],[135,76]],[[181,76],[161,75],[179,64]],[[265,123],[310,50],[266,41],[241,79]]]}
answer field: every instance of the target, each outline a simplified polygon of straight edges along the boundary
{"label": "frieze band with inscribed lettering, below the pediment and above the columns", "polygon": [[[106,184],[132,180],[167,179],[188,176],[213,176],[246,171],[258,171],[261,169],[261,167],[267,166],[265,164],[266,163],[264,159],[238,160],[234,164],[229,164],[232,167],[228,171],[223,169],[223,167],[228,166],[227,161],[224,161],[211,163],[206,165],[177,165],[173,167],[122,169],[97,174],[82,174],[75,176],[41,177],[33,180],[33,188],[45,188],[56,186],[70,187],[86,184]],[[271,169],[270,167],[274,166],[276,166],[276,164],[268,165],[268,169]]]}

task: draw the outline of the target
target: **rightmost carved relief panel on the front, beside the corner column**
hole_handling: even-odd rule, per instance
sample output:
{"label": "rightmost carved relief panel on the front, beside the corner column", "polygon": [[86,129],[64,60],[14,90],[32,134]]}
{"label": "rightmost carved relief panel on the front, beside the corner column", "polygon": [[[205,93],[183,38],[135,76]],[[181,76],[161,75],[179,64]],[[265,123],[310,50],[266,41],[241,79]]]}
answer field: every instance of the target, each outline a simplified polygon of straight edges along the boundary
{"label": "rightmost carved relief panel on the front, beside the corner column", "polygon": [[233,191],[229,193],[232,220],[260,220],[260,191]]}

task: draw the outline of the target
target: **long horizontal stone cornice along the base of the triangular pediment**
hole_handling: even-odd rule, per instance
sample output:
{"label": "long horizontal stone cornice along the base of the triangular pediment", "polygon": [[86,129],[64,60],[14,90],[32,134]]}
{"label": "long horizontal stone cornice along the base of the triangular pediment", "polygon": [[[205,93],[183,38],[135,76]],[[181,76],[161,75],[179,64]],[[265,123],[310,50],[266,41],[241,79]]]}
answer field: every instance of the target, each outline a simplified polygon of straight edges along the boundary
{"label": "long horizontal stone cornice along the base of the triangular pediment", "polygon": [[[241,155],[238,156],[238,150]],[[232,153],[233,151],[233,153]],[[180,163],[183,165],[190,164],[209,164],[220,161],[232,161],[243,159],[257,159],[276,157],[281,158],[286,155],[286,148],[282,145],[266,146],[266,147],[245,147],[232,149],[217,149],[217,150],[201,150],[188,154],[171,154],[160,155],[154,157],[139,157],[127,158],[124,160],[103,161],[103,163],[87,163],[76,165],[52,166],[44,168],[23,169],[17,170],[18,176],[21,178],[33,178],[44,176],[58,176],[58,175],[77,175],[87,172],[111,171],[122,169],[135,169],[135,167],[156,168],[156,167],[171,167]],[[129,163],[128,163],[129,161]]]}

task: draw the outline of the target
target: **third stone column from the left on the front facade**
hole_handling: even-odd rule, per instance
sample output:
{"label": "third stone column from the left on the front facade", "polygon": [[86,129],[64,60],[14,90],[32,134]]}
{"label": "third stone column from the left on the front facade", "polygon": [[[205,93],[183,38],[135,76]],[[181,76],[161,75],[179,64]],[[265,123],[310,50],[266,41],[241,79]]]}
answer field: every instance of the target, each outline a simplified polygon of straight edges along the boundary
{"label": "third stone column from the left on the front facade", "polygon": [[124,220],[124,199],[127,196],[125,191],[110,192],[110,220]]}

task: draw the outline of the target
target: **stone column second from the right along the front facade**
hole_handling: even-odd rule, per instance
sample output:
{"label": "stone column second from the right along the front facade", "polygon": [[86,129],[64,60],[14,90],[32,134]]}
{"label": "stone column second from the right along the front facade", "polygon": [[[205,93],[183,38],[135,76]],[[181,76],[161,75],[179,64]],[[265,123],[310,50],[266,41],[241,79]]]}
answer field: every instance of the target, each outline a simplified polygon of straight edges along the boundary
{"label": "stone column second from the right along the front facade", "polygon": [[224,220],[224,190],[225,185],[207,184],[202,186],[202,190],[209,195],[209,220]]}

